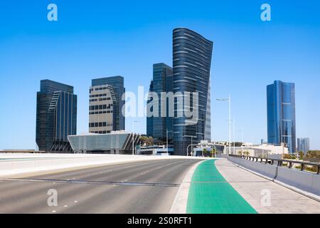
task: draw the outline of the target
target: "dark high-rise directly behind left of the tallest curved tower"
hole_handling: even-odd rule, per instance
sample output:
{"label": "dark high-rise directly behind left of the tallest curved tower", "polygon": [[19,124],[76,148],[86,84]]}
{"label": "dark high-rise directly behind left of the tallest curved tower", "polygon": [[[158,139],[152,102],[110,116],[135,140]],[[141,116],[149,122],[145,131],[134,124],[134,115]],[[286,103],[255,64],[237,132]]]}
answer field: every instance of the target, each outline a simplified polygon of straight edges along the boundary
{"label": "dark high-rise directly behind left of the tallest curved tower", "polygon": [[[158,95],[159,102],[157,103],[157,107],[154,107],[152,110],[157,115],[146,119],[147,135],[154,138],[154,142],[166,142],[167,131],[169,142],[172,140],[172,117],[169,115],[169,100],[161,100],[161,93],[172,92],[172,73],[173,71],[170,66],[164,63],[154,64],[153,80],[151,81],[149,91]],[[161,114],[161,110],[163,109],[162,112],[164,112],[164,108],[166,108],[166,113]]]}

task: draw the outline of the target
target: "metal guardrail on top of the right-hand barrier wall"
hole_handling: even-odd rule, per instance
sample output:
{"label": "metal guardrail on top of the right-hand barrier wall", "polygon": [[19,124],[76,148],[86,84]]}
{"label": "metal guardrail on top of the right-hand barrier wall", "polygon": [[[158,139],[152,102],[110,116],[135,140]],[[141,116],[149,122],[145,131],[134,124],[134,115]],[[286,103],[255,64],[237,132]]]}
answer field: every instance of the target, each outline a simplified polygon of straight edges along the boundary
{"label": "metal guardrail on top of the right-hand barrier wall", "polygon": [[[245,155],[229,155],[230,157],[238,157],[243,160],[250,160],[252,162],[260,162],[270,165],[275,165],[275,162],[277,162],[277,166],[280,167],[288,167],[289,169],[292,169],[294,167],[294,164],[299,164],[300,168],[299,170],[305,171],[305,172],[311,172],[306,170],[307,166],[316,167],[316,173],[317,175],[320,175],[320,164],[314,163],[314,162],[300,162],[297,160],[281,160],[281,159],[273,159],[273,158],[267,158],[267,157],[251,157],[251,156],[245,156]],[[287,163],[289,165],[284,165],[284,163]]]}

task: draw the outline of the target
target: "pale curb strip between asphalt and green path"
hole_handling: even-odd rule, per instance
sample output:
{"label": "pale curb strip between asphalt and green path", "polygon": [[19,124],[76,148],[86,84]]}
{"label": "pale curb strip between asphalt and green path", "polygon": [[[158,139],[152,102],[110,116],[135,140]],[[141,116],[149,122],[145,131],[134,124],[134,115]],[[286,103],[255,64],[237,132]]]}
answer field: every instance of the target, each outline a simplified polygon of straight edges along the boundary
{"label": "pale curb strip between asphalt and green path", "polygon": [[198,165],[200,165],[202,162],[205,162],[205,161],[206,160],[196,163],[188,171],[183,181],[181,182],[178,192],[176,193],[176,197],[174,198],[174,202],[171,206],[169,214],[186,214],[188,194],[189,194],[189,188],[191,185],[191,180],[193,177],[193,172],[195,172]]}

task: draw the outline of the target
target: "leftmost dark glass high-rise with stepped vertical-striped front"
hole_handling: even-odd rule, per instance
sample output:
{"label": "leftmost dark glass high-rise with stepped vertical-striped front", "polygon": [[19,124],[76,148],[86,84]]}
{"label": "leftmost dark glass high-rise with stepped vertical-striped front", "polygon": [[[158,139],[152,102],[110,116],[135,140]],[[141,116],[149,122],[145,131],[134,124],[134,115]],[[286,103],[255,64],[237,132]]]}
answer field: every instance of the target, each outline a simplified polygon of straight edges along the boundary
{"label": "leftmost dark glass high-rise with stepped vertical-striped front", "polygon": [[37,93],[36,143],[46,152],[72,152],[68,135],[77,134],[77,95],[73,86],[42,80]]}

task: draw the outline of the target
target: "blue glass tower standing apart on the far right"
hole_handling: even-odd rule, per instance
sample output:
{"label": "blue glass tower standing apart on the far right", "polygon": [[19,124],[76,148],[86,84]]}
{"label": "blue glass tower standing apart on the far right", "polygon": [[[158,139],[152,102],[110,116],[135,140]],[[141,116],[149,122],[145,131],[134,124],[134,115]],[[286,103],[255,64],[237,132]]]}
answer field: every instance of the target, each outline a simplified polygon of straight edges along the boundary
{"label": "blue glass tower standing apart on the far right", "polygon": [[296,151],[296,114],[294,83],[274,81],[267,86],[268,143]]}

